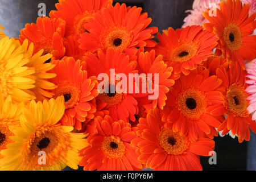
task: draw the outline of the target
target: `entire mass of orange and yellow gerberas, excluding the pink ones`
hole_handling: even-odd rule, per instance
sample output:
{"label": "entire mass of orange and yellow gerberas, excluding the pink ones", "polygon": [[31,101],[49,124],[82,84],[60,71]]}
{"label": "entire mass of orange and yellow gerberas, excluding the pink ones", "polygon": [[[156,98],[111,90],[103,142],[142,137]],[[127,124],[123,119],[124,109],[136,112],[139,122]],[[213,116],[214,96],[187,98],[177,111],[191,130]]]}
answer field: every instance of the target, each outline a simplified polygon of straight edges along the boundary
{"label": "entire mass of orange and yellow gerberas, excluding the pink ones", "polygon": [[[245,92],[256,55],[249,4],[221,1],[203,26],[162,34],[125,3],[60,0],[56,9],[19,38],[0,34],[0,169],[202,170],[218,131],[239,142],[256,133]],[[98,92],[110,69],[158,74],[159,97]]]}

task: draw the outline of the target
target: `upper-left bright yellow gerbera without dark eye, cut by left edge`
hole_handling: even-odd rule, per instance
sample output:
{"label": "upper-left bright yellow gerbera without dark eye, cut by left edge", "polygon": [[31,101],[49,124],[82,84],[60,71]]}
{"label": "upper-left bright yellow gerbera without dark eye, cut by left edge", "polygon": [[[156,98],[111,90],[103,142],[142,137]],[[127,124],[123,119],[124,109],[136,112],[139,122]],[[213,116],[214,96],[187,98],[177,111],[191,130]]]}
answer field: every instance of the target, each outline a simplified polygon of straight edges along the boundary
{"label": "upper-left bright yellow gerbera without dark eye, cut by left edge", "polygon": [[26,65],[29,59],[24,55],[18,40],[5,37],[0,39],[0,88],[3,97],[11,96],[14,102],[34,100],[28,91],[35,87],[35,68]]}

